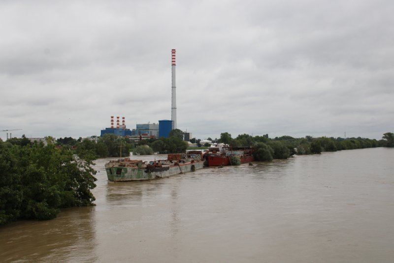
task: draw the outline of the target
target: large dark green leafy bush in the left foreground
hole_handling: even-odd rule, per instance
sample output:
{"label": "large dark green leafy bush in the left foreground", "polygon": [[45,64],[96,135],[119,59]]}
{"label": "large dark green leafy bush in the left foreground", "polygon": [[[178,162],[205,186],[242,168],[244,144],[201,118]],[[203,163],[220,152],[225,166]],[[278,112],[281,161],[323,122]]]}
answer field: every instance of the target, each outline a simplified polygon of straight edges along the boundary
{"label": "large dark green leafy bush in the left foreground", "polygon": [[60,208],[94,205],[92,164],[54,145],[0,143],[0,225],[52,219]]}

